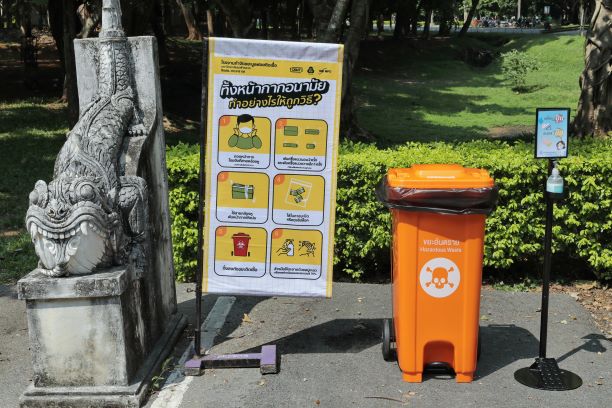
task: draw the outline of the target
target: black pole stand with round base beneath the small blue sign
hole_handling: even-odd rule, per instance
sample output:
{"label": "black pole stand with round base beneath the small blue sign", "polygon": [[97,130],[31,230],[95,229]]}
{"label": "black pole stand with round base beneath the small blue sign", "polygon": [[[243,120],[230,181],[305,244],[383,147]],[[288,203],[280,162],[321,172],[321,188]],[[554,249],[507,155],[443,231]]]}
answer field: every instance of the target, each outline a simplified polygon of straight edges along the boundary
{"label": "black pole stand with round base beneath the small blue sign", "polygon": [[[548,175],[554,166],[553,160],[548,161]],[[544,232],[544,275],[542,277],[542,308],[540,322],[540,353],[535,362],[514,373],[514,378],[523,385],[548,391],[573,390],[582,385],[582,379],[557,365],[557,360],[546,357],[546,342],[548,335],[548,294],[550,286],[550,268],[552,257],[552,223],[555,201],[564,198],[564,193],[549,193],[544,187],[546,199],[546,227]]]}

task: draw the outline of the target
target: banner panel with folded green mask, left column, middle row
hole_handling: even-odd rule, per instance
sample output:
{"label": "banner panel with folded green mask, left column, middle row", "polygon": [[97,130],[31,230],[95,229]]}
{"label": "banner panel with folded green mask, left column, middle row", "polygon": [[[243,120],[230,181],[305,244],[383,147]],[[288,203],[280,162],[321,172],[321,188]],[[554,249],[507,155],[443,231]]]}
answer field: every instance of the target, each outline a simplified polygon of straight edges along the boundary
{"label": "banner panel with folded green mask, left column, middle row", "polygon": [[217,175],[217,219],[262,224],[268,219],[270,179],[265,173],[222,171]]}

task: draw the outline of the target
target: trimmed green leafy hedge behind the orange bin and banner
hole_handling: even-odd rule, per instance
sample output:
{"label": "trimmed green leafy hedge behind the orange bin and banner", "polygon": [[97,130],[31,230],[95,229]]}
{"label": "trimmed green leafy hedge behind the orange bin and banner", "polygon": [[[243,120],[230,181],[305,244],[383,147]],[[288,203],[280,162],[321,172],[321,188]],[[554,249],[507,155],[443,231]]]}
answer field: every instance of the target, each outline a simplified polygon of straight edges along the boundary
{"label": "trimmed green leafy hedge behind the orange bin and banner", "polygon": [[[505,270],[538,262],[544,235],[546,160],[533,159],[530,143],[473,141],[409,143],[380,150],[344,144],[338,165],[335,264],[353,279],[388,270],[390,215],[374,189],[390,167],[458,163],[487,169],[500,187],[498,208],[487,219],[487,267]],[[168,149],[174,259],[179,280],[193,278],[197,247],[198,147]],[[574,141],[559,163],[570,190],[555,207],[553,250],[581,260],[602,280],[612,279],[612,140]],[[342,273],[342,272],[340,272]]]}

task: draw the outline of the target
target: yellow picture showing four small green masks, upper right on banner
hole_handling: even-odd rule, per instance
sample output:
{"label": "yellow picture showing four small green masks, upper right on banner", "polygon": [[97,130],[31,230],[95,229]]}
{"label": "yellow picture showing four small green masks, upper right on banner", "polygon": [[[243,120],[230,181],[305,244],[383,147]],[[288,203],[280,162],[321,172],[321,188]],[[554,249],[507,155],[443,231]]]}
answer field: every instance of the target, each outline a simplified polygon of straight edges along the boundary
{"label": "yellow picture showing four small green masks, upper right on banner", "polygon": [[325,156],[327,123],[317,119],[278,119],[275,153]]}

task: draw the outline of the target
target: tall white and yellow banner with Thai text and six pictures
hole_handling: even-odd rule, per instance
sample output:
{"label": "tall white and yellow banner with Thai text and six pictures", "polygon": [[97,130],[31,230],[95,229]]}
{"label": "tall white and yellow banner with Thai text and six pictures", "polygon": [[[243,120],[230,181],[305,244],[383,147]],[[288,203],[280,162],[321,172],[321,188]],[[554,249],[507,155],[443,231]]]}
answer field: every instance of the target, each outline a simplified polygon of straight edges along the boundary
{"label": "tall white and yellow banner with Thai text and six pictures", "polygon": [[209,40],[204,292],[331,297],[342,56]]}

